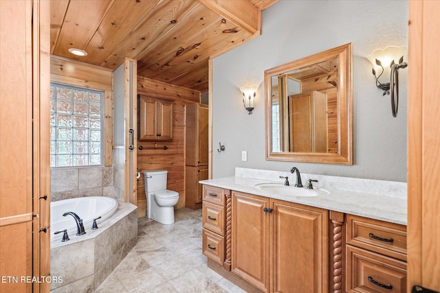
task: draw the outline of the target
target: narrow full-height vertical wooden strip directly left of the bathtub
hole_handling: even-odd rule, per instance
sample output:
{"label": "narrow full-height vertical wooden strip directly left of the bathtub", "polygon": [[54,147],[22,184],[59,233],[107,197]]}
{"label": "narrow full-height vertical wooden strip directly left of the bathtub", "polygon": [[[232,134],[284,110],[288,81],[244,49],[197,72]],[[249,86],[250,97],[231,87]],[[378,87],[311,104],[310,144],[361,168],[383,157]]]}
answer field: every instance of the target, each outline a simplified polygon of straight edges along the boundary
{"label": "narrow full-height vertical wooden strip directly left of the bathtub", "polygon": [[[50,275],[50,3],[33,1],[33,275]],[[45,198],[45,199],[44,199]],[[46,232],[39,232],[47,228]],[[32,283],[49,292],[50,283]]]}

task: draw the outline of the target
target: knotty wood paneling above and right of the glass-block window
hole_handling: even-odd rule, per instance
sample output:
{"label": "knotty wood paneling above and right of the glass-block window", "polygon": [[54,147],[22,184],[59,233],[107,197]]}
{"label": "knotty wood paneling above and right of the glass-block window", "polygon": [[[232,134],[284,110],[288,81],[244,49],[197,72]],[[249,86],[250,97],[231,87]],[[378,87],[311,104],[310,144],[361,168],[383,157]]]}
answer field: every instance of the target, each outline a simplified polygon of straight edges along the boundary
{"label": "knotty wood paneling above and right of the glass-block window", "polygon": [[104,165],[111,166],[113,148],[113,72],[104,67],[52,55],[50,58],[50,80],[61,84],[104,91]]}

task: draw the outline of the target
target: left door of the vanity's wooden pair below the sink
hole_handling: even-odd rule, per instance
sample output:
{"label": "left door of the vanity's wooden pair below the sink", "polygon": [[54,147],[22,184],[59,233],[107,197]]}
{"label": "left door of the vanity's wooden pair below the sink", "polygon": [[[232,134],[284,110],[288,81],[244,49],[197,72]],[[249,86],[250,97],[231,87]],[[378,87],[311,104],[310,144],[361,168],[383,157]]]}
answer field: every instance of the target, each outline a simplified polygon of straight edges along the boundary
{"label": "left door of the vanity's wooden pair below the sink", "polygon": [[232,272],[269,292],[269,199],[232,192]]}

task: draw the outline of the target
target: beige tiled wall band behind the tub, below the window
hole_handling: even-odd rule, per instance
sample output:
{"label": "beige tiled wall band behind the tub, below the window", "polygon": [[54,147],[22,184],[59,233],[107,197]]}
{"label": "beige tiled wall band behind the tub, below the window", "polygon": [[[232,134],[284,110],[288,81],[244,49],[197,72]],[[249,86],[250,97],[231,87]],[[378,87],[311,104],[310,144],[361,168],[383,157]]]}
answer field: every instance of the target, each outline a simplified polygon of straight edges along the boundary
{"label": "beige tiled wall band behind the tub, below the window", "polygon": [[124,201],[124,148],[113,148],[109,167],[68,167],[51,169],[51,201],[108,196]]}

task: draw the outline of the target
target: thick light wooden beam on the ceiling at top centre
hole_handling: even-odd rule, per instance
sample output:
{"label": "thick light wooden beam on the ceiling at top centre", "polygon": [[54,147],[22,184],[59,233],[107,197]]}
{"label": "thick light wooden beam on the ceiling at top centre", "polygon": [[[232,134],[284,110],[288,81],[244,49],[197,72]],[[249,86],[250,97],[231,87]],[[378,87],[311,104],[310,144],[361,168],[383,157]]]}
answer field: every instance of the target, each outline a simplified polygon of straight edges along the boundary
{"label": "thick light wooden beam on the ceiling at top centre", "polygon": [[260,34],[261,10],[248,0],[199,0],[199,2],[239,27],[243,27],[250,34]]}

